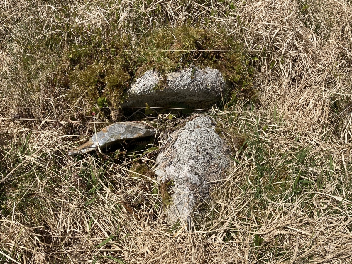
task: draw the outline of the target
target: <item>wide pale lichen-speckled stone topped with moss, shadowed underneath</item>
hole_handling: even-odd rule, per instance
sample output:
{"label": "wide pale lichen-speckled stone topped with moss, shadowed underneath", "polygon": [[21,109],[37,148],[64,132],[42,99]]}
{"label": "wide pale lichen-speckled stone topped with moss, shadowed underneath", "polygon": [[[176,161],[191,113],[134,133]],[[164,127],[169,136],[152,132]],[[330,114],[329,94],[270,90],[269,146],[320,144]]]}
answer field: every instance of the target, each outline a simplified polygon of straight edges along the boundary
{"label": "wide pale lichen-speckled stone topped with moss, shadowed underneath", "polygon": [[127,90],[128,98],[122,106],[164,106],[169,103],[210,102],[221,98],[226,82],[217,69],[190,66],[166,75],[167,85],[157,89],[161,76],[157,71],[146,71]]}

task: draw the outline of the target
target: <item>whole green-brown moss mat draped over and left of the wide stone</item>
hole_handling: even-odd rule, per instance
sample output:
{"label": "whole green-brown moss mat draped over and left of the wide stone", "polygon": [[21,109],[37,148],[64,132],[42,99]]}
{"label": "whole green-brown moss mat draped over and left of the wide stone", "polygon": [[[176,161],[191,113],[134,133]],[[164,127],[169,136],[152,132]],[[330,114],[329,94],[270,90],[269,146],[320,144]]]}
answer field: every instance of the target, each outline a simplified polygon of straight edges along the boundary
{"label": "whole green-brown moss mat draped over and left of the wide stone", "polygon": [[[165,74],[191,64],[219,69],[234,90],[249,89],[252,85],[253,68],[248,62],[251,60],[246,59],[243,45],[225,29],[215,32],[202,29],[201,25],[164,25],[132,38],[125,32],[107,34],[106,29],[67,27],[61,29],[64,37],[57,29],[50,38],[27,46],[26,52],[56,57],[56,64],[65,66],[57,79],[64,84],[61,86],[65,87],[65,100],[69,108],[86,109],[88,117],[94,112],[95,118],[111,119],[111,110],[119,109],[126,89],[150,69],[161,74],[156,87],[160,90],[167,86]],[[28,65],[33,65],[33,58],[24,56]],[[48,68],[52,64],[42,65]],[[27,70],[33,71],[31,67]],[[34,82],[36,75],[29,75],[29,83]],[[54,79],[48,81],[55,90],[58,85]],[[106,98],[106,105],[112,109],[95,111],[101,108],[98,98]]]}

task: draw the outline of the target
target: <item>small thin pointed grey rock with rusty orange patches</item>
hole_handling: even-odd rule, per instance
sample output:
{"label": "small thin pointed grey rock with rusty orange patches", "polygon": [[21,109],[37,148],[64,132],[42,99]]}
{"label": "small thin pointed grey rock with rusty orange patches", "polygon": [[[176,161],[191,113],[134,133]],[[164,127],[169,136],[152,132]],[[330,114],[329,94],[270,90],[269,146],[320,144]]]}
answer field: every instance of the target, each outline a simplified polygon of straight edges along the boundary
{"label": "small thin pointed grey rock with rusty orange patches", "polygon": [[95,150],[97,146],[107,147],[119,140],[143,138],[155,135],[156,130],[143,123],[120,122],[111,124],[94,134],[79,147],[69,150],[68,155],[78,155]]}

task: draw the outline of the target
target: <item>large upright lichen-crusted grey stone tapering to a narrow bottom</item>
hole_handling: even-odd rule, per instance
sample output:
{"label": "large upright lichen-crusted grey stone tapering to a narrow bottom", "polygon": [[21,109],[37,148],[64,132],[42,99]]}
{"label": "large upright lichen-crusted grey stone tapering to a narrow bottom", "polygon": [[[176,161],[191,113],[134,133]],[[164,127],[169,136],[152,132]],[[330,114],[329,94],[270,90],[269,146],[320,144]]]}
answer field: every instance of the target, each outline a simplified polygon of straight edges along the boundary
{"label": "large upright lichen-crusted grey stone tapering to a narrow bottom", "polygon": [[188,121],[166,144],[156,160],[155,173],[158,181],[174,183],[170,220],[190,224],[195,207],[209,195],[207,182],[224,178],[230,165],[230,147],[215,132],[214,121],[204,115]]}

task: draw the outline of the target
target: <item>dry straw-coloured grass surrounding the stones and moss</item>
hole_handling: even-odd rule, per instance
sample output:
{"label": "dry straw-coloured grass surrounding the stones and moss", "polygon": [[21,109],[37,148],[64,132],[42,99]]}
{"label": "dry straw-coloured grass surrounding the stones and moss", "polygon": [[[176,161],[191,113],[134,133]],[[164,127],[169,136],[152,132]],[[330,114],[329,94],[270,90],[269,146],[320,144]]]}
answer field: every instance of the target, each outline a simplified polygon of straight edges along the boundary
{"label": "dry straw-coloured grass surrounding the stones and moss", "polygon": [[[350,262],[351,2],[182,3],[78,1],[68,10],[79,14],[74,23],[100,28],[106,38],[111,17],[117,32],[132,37],[162,21],[227,27],[256,58],[256,103],[238,93],[208,112],[235,149],[238,135],[246,146],[201,205],[206,214],[195,216],[193,232],[166,221],[152,176],[132,172],[136,162],[153,165],[153,156],[129,153],[144,149],[66,156],[103,124],[81,122],[77,113],[85,110],[67,107],[66,90],[46,88],[50,72],[38,70],[38,87],[30,89],[23,42],[15,41],[49,36],[52,24],[65,23],[53,14],[65,3],[0,2],[0,263]],[[47,20],[42,30],[36,17]],[[161,131],[150,144],[182,123],[168,116],[140,114]]]}

